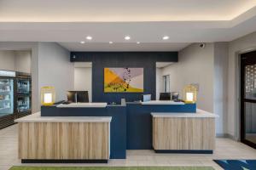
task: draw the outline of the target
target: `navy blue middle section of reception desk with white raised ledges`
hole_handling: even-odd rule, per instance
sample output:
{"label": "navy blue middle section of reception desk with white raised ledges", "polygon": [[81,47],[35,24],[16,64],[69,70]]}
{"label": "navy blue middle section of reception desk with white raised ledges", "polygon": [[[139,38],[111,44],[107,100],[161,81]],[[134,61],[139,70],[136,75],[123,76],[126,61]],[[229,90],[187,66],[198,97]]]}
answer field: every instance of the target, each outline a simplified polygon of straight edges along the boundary
{"label": "navy blue middle section of reception desk with white raised ledges", "polygon": [[[108,154],[110,159],[125,159],[126,150],[154,149],[151,113],[156,112],[166,116],[170,113],[196,114],[196,105],[172,101],[126,102],[125,105],[107,105],[107,103],[51,105],[41,107],[41,118],[46,121],[50,119],[49,117],[64,120],[70,117],[77,117],[75,120],[80,118],[83,120],[84,117],[112,117],[109,122]],[[212,138],[215,137],[215,134],[211,133],[211,135]],[[99,158],[106,159],[106,156],[95,157],[95,159]]]}

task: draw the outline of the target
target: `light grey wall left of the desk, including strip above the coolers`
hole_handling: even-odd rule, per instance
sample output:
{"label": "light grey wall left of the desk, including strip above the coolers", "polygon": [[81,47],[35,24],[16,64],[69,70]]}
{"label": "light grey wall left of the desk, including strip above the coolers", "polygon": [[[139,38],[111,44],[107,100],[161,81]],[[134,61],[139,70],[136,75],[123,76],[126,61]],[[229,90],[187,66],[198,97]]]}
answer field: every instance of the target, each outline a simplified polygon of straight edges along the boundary
{"label": "light grey wall left of the desk, including strip above the coolers", "polygon": [[[67,90],[73,89],[73,63],[70,63],[69,51],[59,44],[55,42],[0,42],[0,50],[32,51],[32,113],[40,111],[40,88],[42,86],[54,86],[57,90],[56,100],[66,99]],[[11,68],[15,69],[15,66],[19,71],[25,71],[20,65],[12,64]]]}

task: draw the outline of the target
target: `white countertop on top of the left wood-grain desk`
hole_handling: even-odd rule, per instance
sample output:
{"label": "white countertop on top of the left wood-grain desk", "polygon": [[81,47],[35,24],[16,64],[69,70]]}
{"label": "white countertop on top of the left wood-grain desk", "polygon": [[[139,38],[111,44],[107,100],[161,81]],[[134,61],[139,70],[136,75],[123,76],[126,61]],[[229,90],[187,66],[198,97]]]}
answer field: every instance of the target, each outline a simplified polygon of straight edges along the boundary
{"label": "white countertop on top of the left wood-grain desk", "polygon": [[16,119],[15,122],[111,122],[111,116],[41,116],[41,112]]}

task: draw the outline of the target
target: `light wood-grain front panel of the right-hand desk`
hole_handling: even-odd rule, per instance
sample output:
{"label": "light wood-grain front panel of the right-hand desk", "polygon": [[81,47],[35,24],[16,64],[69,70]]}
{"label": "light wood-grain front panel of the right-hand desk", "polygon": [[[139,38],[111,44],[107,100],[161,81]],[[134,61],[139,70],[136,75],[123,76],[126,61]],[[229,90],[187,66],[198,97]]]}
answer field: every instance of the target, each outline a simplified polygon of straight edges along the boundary
{"label": "light wood-grain front panel of the right-hand desk", "polygon": [[154,150],[214,150],[214,118],[153,118]]}

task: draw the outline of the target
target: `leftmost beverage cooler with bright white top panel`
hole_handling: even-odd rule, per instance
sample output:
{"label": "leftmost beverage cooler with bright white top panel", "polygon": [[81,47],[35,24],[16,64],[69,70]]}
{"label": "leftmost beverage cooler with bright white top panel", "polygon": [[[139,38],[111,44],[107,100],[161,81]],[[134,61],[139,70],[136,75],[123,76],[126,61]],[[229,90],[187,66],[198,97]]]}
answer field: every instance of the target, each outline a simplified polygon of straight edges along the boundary
{"label": "leftmost beverage cooler with bright white top panel", "polygon": [[15,71],[0,71],[0,128],[15,123]]}

